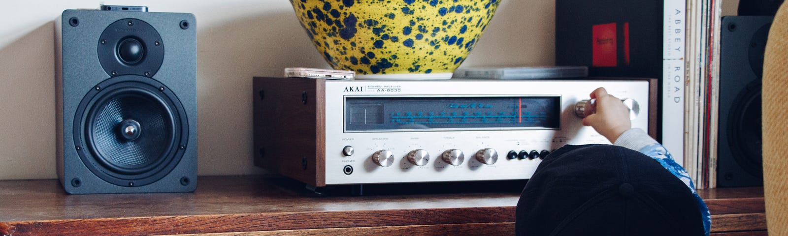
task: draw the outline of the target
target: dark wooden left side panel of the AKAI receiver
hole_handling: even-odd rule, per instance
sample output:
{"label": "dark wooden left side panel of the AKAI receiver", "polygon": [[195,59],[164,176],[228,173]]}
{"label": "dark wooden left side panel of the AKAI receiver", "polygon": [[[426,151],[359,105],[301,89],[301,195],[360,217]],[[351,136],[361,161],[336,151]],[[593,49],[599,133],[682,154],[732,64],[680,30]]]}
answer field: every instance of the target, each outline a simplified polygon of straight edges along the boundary
{"label": "dark wooden left side panel of the AKAI receiver", "polygon": [[325,79],[255,77],[253,87],[255,165],[325,186]]}

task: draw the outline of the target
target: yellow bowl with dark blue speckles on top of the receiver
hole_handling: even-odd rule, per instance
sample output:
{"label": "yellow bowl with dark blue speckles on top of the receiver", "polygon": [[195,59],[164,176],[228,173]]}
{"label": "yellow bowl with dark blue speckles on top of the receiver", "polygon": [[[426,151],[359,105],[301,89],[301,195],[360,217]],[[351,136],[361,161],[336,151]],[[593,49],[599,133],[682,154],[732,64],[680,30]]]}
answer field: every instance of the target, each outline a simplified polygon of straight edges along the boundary
{"label": "yellow bowl with dark blue speckles on top of the receiver", "polygon": [[291,0],[333,68],[359,79],[449,79],[500,0]]}

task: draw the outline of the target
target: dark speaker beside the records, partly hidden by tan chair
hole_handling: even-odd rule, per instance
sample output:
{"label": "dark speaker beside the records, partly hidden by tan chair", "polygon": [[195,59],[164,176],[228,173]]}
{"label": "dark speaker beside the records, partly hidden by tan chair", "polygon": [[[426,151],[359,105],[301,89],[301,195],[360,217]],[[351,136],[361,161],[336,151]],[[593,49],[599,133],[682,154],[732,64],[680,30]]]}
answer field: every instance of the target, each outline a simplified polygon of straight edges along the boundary
{"label": "dark speaker beside the records, partly hidden by tan chair", "polygon": [[723,17],[717,186],[762,186],[761,77],[774,17]]}

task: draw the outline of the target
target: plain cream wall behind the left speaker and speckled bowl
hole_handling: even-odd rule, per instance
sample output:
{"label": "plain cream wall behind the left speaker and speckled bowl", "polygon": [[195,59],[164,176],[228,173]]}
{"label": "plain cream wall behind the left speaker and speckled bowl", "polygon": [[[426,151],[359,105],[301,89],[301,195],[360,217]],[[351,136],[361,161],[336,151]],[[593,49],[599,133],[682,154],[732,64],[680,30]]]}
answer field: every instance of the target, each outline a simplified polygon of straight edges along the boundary
{"label": "plain cream wall behind the left speaker and speckled bowl", "polygon": [[[57,178],[53,22],[101,3],[197,17],[199,175],[261,172],[252,164],[252,76],[328,68],[288,0],[3,1],[0,179]],[[553,65],[554,14],[554,0],[503,0],[462,67]]]}

